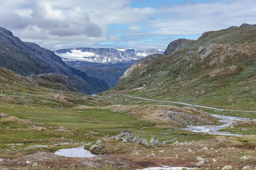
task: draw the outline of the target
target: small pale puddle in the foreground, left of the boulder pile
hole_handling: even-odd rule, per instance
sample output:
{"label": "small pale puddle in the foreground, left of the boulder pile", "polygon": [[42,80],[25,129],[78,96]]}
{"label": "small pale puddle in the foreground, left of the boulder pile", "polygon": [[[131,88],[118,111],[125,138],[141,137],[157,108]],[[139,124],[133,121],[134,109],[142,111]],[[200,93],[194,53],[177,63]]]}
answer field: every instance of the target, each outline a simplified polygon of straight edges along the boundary
{"label": "small pale puddle in the foreground, left of the boulder pile", "polygon": [[60,149],[60,150],[56,151],[54,154],[59,155],[59,156],[79,157],[79,158],[96,157],[96,155],[93,155],[92,153],[90,153],[89,150],[85,150],[84,147]]}

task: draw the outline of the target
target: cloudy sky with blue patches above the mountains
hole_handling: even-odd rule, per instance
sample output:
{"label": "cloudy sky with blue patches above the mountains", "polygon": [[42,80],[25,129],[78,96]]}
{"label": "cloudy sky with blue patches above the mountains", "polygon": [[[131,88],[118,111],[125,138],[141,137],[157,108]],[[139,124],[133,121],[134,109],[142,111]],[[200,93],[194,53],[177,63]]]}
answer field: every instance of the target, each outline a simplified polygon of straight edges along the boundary
{"label": "cloudy sky with blue patches above the mountains", "polygon": [[164,49],[256,24],[256,0],[0,0],[0,27],[41,47]]}

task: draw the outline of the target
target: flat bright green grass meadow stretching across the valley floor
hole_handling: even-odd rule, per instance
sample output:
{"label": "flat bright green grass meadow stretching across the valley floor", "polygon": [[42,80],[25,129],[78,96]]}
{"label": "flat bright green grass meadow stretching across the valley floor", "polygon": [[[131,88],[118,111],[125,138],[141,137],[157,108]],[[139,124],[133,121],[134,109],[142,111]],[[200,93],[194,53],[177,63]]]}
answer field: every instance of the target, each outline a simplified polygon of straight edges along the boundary
{"label": "flat bright green grass meadow stretching across the valley floor", "polygon": [[[61,137],[73,139],[74,142],[91,142],[108,134],[115,136],[125,129],[130,130],[134,135],[148,140],[150,140],[152,136],[157,136],[160,142],[173,139],[174,137],[178,137],[177,140],[179,140],[179,142],[198,141],[199,139],[209,139],[212,137],[212,135],[192,133],[173,127],[154,127],[156,125],[154,123],[139,121],[125,114],[105,110],[58,110],[0,105],[0,111],[20,119],[48,125],[46,129],[40,132],[36,128],[29,128],[28,125],[19,125],[18,122],[15,123],[6,121],[6,118],[0,118],[0,147],[8,147],[5,144],[9,143],[54,143],[56,142],[55,140],[48,142],[47,139],[60,139]],[[54,127],[58,126],[64,126],[71,131],[56,131]],[[10,127],[10,129],[7,130],[6,127]],[[146,128],[140,130],[141,127]],[[84,135],[85,133],[90,133],[90,131],[99,134]],[[164,135],[164,132],[167,132],[167,134]],[[73,133],[73,135],[71,135],[71,133]],[[43,141],[39,141],[38,139],[42,139]],[[19,145],[18,147],[22,146]]]}

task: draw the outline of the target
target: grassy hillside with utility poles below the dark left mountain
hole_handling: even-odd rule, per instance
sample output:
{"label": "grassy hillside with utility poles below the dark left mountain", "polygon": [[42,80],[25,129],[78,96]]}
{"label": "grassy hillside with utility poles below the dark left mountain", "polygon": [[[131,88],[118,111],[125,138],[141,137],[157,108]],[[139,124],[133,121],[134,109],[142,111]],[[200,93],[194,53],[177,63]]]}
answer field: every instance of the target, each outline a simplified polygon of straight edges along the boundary
{"label": "grassy hillside with utility poles below the dark left mountain", "polygon": [[[36,84],[38,88],[36,90]],[[2,85],[2,96],[0,104],[26,105],[43,108],[73,108],[78,105],[109,105],[103,99],[92,99],[84,97],[82,93],[60,91],[60,83],[53,83],[45,79],[40,82],[31,81],[20,74],[9,69],[0,67],[0,85]]]}

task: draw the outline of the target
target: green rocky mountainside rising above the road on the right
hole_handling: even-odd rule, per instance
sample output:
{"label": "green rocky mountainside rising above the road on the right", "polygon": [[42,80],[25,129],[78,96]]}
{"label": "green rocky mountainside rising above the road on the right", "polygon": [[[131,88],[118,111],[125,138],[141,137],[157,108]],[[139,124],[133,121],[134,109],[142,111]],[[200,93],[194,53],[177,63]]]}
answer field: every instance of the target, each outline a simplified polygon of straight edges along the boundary
{"label": "green rocky mountainside rising above the road on the right", "polygon": [[125,71],[116,87],[100,95],[254,111],[255,92],[256,25],[243,24],[205,32],[168,55],[140,59]]}

